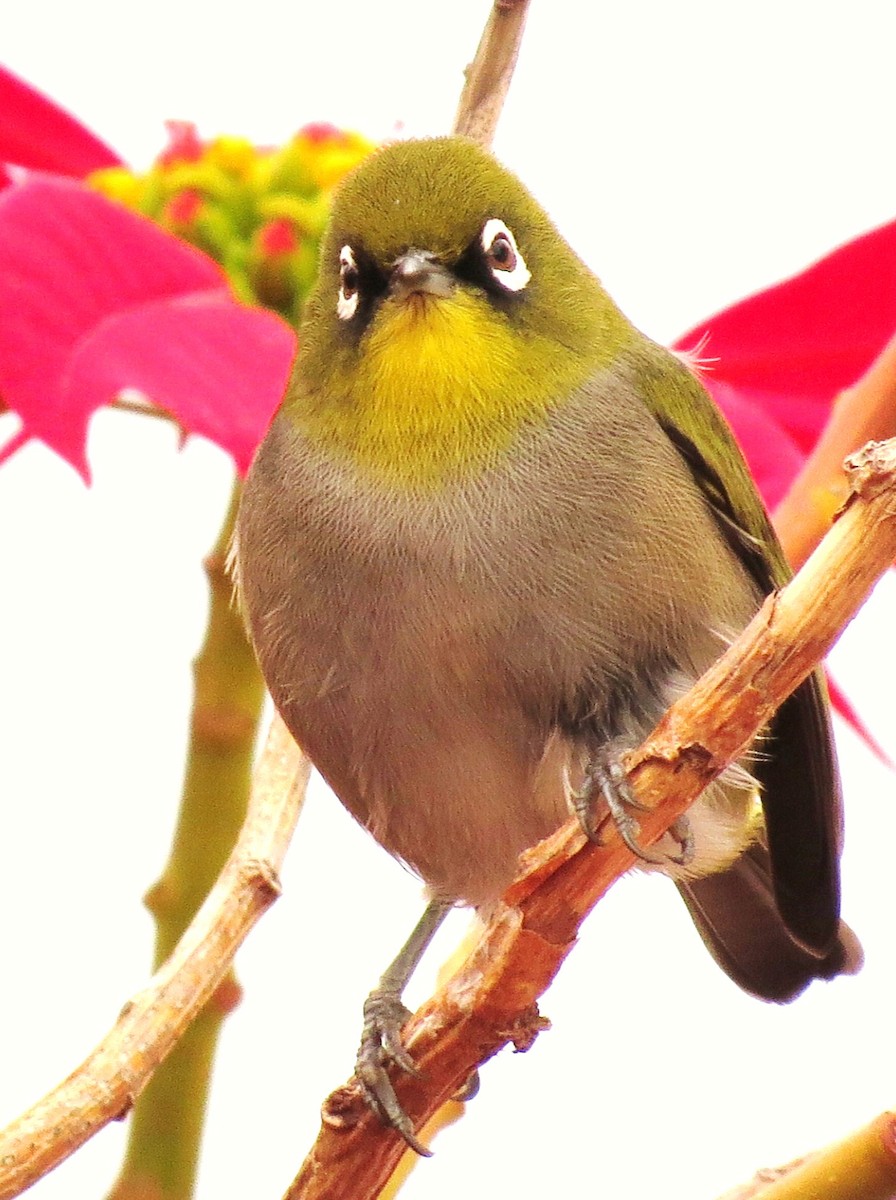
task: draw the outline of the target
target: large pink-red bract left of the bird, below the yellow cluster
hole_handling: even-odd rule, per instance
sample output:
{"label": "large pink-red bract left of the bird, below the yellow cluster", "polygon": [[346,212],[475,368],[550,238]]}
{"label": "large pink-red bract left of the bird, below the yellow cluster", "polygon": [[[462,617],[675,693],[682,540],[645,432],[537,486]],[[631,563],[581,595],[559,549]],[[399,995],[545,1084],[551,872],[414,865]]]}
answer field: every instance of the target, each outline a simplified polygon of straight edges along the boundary
{"label": "large pink-red bract left of the bird, below the yellow cluster", "polygon": [[94,410],[125,388],[245,470],[283,394],[295,335],[237,305],[221,269],[144,217],[71,180],[0,193],[0,394],[88,475]]}

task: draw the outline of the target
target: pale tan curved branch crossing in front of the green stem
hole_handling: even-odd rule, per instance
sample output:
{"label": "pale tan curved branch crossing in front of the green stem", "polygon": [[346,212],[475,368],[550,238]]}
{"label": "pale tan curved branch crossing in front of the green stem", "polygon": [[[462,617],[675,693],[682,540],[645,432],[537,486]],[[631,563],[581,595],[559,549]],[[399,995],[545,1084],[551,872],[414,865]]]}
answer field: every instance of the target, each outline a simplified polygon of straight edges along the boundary
{"label": "pale tan curved branch crossing in front of the green stem", "polygon": [[240,838],[178,948],[68,1079],[0,1133],[0,1200],[18,1195],[126,1114],[203,1008],[279,894],[278,874],[308,773],[308,761],[275,719]]}

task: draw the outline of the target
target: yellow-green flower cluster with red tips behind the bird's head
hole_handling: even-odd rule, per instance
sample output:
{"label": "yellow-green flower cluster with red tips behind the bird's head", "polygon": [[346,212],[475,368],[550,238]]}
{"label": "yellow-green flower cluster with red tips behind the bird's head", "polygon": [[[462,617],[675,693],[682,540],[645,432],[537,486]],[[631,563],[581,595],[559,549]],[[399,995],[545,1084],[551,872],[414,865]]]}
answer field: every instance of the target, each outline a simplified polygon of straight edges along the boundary
{"label": "yellow-green flower cluster with red tips behind the bird's head", "polygon": [[148,172],[112,167],[88,184],[221,263],[240,299],[297,323],[332,188],[373,144],[324,124],[275,149],[229,136],[203,142],[187,122],[168,128]]}

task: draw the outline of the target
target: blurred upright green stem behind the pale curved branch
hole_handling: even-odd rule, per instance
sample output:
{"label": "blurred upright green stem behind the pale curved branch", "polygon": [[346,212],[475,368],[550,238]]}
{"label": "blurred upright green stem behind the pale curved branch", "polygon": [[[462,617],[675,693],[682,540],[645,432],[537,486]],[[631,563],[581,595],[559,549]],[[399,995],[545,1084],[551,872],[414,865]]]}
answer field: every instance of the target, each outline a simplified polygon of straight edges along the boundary
{"label": "blurred upright green stem behind the pale curved branch", "polygon": [[[224,570],[239,494],[237,484],[205,564],[211,592],[209,626],[193,664],[181,810],[168,864],[146,895],[156,918],[156,966],[176,946],[217,878],[246,811],[264,683]],[[223,1018],[237,998],[230,974],[138,1098],[125,1162],[109,1200],[192,1196],[215,1048]]]}

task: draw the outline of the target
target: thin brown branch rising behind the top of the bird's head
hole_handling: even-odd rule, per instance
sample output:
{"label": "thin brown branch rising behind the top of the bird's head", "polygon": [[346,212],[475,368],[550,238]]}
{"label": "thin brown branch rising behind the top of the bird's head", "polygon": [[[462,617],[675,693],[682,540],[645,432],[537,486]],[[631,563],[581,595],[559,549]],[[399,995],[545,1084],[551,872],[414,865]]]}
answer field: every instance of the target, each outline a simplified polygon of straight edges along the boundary
{"label": "thin brown branch rising behind the top of the bird's head", "polygon": [[529,0],[494,0],[476,56],[467,67],[453,132],[489,146],[513,77]]}

